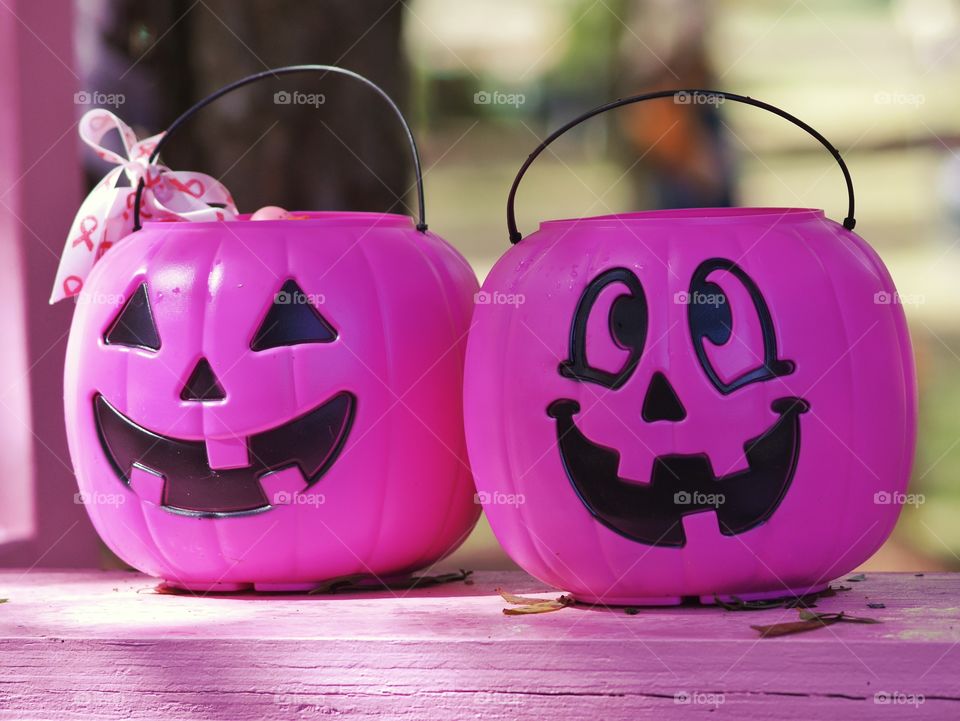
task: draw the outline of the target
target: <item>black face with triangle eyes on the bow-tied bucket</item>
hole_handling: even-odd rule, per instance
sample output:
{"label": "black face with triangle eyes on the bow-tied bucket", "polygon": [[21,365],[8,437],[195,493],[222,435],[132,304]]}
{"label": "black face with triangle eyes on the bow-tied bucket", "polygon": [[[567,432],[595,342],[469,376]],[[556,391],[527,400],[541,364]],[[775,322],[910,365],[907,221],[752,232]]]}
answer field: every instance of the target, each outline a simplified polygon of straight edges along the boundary
{"label": "black face with triangle eyes on the bow-tied bucket", "polygon": [[[252,333],[250,351],[258,353],[305,343],[329,343],[337,332],[293,279],[272,298]],[[142,283],[103,335],[107,346],[160,350],[146,283]],[[206,357],[190,370],[180,398],[189,403],[219,403],[228,391]],[[203,441],[175,438],[145,428],[118,411],[101,393],[93,398],[97,435],[117,476],[138,494],[162,483],[160,503],[196,514],[269,510],[273,474],[287,469],[302,477],[302,488],[316,483],[336,460],[353,420],[356,399],[340,392],[282,425],[246,439],[246,459],[211,465]],[[244,462],[246,461],[246,462]],[[236,465],[237,463],[242,465]],[[144,478],[145,475],[145,478]]]}

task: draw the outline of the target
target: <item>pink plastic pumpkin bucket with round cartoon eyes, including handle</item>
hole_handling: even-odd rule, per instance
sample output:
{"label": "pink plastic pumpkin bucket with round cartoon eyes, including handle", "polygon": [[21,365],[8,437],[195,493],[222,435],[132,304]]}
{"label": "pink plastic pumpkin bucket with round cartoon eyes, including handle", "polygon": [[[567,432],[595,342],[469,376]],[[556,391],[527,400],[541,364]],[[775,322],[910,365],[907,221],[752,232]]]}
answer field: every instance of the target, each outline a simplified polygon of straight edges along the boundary
{"label": "pink plastic pumpkin bucket with round cartoon eyes, including handle", "polygon": [[[678,91],[682,92],[682,91]],[[580,600],[803,594],[867,559],[907,486],[916,384],[876,253],[802,208],[544,222],[483,284],[467,444],[510,556]],[[518,242],[519,241],[519,242]],[[504,302],[497,302],[503,299]],[[513,299],[514,302],[511,302]]]}

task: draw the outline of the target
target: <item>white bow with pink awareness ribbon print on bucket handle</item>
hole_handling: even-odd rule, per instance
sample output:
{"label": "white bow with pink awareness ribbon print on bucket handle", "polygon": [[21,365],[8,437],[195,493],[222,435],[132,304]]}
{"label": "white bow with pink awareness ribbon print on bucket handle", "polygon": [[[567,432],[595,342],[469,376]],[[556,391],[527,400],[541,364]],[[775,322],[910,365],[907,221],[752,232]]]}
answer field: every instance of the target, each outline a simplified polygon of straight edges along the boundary
{"label": "white bow with pink awareness ribbon print on bucket handle", "polygon": [[[102,145],[104,137],[116,130],[124,155]],[[173,171],[162,165],[149,165],[163,133],[137,140],[133,130],[109,110],[88,111],[80,119],[80,138],[97,156],[114,163],[111,170],[90,191],[70,226],[50,303],[77,295],[94,264],[113,245],[133,232],[133,204],[137,185],[144,179],[140,198],[143,220],[210,221],[235,220],[233,198],[218,180],[203,173]],[[129,185],[117,187],[121,175]]]}

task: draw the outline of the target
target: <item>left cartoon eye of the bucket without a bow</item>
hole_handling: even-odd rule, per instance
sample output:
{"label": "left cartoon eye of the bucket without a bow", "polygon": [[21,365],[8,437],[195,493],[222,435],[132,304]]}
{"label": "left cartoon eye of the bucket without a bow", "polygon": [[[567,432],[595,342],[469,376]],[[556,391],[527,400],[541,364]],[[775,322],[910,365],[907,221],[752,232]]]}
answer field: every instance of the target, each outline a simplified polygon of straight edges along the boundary
{"label": "left cartoon eye of the bucket without a bow", "polygon": [[[627,351],[627,359],[616,370],[596,368],[587,359],[587,323],[600,294],[610,285],[625,286],[628,291],[610,305],[608,328],[616,345]],[[626,268],[612,268],[592,281],[580,296],[570,325],[569,358],[560,363],[560,374],[572,380],[597,383],[616,389],[627,382],[640,362],[647,339],[648,311],[643,286]]]}

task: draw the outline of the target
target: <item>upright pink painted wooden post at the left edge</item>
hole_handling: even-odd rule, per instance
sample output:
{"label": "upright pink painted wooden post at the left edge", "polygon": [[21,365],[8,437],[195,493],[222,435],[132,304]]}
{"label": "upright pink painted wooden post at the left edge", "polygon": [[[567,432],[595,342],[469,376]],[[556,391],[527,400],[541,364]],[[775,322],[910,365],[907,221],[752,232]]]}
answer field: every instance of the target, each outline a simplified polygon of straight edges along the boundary
{"label": "upright pink painted wooden post at the left edge", "polygon": [[92,566],[63,425],[73,307],[47,305],[81,200],[74,3],[0,2],[0,565]]}

